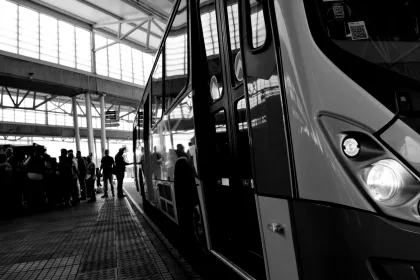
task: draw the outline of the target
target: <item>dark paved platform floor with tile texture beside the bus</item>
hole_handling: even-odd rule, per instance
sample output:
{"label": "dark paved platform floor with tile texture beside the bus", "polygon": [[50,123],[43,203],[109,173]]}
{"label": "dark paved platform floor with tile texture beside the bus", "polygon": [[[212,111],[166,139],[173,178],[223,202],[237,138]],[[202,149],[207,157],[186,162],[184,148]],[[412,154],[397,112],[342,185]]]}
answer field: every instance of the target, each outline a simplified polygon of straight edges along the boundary
{"label": "dark paved platform floor with tile texture beside the bus", "polygon": [[0,279],[191,279],[150,235],[128,198],[100,195],[0,221]]}

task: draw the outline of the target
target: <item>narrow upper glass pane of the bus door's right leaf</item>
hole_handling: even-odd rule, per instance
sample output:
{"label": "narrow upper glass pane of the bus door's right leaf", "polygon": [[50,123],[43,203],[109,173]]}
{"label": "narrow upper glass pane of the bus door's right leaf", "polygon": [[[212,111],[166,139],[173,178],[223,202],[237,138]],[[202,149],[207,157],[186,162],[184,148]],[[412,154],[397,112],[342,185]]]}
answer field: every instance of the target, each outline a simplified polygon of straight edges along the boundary
{"label": "narrow upper glass pane of the bus door's right leaf", "polygon": [[239,19],[238,19],[238,0],[232,1],[232,4],[227,6],[227,17],[229,20],[229,26],[228,26],[228,32],[230,34],[230,53],[231,53],[231,64],[232,66],[230,67],[232,70],[232,83],[233,86],[237,86],[239,85],[241,82],[238,81],[238,79],[236,78],[236,75],[234,73],[234,63],[235,63],[235,58],[236,55],[238,54],[239,50],[240,50],[240,45],[239,45]]}

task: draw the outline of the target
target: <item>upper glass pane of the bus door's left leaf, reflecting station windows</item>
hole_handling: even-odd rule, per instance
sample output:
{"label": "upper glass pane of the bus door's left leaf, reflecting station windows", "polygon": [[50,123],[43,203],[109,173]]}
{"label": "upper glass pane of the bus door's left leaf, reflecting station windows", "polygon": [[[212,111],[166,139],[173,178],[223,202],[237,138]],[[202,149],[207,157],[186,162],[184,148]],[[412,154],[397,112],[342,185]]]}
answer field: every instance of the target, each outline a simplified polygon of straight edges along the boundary
{"label": "upper glass pane of the bus door's left leaf, reflecting station windows", "polygon": [[217,31],[214,0],[201,0],[200,14],[204,45],[207,55],[207,67],[209,74],[208,81],[210,84],[210,90],[212,92],[211,97],[213,100],[217,100],[223,94],[223,77],[221,60],[219,56],[219,37]]}

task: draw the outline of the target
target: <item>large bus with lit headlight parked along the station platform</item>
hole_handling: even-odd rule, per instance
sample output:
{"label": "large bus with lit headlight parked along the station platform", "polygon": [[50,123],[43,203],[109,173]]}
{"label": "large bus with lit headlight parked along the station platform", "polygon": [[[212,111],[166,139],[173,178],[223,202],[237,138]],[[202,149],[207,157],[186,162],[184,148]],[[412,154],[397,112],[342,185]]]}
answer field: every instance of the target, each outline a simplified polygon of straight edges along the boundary
{"label": "large bus with lit headlight parked along the station platform", "polygon": [[420,279],[419,16],[176,1],[133,129],[145,208],[244,279]]}

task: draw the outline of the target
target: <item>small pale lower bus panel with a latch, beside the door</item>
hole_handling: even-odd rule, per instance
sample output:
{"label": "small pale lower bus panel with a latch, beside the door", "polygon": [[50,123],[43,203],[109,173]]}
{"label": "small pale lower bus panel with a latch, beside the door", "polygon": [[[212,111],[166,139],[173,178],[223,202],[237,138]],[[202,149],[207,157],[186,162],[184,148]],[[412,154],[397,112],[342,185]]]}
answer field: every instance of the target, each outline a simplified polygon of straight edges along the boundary
{"label": "small pale lower bus panel with a latch, beside the door", "polygon": [[[257,196],[267,278],[298,280],[297,260],[292,234],[289,202],[286,199]],[[283,232],[275,233],[270,225],[279,224]]]}

